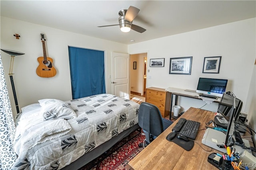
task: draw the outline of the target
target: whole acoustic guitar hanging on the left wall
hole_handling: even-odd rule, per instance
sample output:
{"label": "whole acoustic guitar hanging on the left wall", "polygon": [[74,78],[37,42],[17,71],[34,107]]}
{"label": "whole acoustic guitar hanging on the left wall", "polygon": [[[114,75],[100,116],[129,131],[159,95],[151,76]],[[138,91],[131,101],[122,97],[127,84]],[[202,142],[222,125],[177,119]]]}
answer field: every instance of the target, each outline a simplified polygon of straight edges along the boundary
{"label": "whole acoustic guitar hanging on the left wall", "polygon": [[56,75],[56,69],[52,65],[53,60],[50,57],[46,56],[46,49],[45,49],[45,37],[44,34],[41,34],[41,41],[43,44],[43,53],[44,57],[38,57],[37,61],[39,66],[36,68],[36,74],[40,77],[53,77]]}

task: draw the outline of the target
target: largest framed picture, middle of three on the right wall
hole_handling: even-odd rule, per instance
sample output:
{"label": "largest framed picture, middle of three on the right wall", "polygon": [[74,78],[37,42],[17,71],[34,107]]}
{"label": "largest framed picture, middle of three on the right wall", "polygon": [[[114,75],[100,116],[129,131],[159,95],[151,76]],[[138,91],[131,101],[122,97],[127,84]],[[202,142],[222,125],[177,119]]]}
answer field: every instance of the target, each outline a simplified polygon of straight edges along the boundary
{"label": "largest framed picture, middle of three on the right wall", "polygon": [[192,57],[170,58],[169,74],[191,74]]}

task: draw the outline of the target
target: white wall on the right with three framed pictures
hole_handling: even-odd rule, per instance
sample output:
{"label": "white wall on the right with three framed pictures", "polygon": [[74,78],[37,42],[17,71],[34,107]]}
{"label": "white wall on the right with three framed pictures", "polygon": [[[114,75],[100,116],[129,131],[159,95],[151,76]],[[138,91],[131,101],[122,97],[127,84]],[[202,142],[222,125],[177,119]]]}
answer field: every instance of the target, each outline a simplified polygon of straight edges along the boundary
{"label": "white wall on the right with three framed pictures", "polygon": [[[255,83],[251,85],[251,78],[255,76],[255,21],[253,18],[128,45],[128,53],[148,51],[148,61],[165,58],[164,67],[148,67],[147,87],[196,90],[199,77],[228,79],[226,91],[232,91],[241,99],[244,102],[242,111],[248,113],[249,108],[245,106],[253,102],[247,100],[248,94],[250,98],[256,96]],[[191,75],[169,74],[170,58],[189,56],[193,57]],[[204,57],[214,56],[222,56],[220,73],[202,73]],[[253,90],[249,92],[250,86]],[[204,104],[201,100],[184,97],[179,101],[182,110]],[[217,111],[217,107],[217,103],[212,103],[202,109]]]}

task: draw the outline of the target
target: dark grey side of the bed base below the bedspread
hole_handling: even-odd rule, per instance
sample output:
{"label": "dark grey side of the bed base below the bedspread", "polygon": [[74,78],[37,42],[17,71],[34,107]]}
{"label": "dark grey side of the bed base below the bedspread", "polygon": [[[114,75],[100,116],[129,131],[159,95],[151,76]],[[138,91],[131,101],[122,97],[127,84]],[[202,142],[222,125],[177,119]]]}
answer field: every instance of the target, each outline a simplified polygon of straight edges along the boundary
{"label": "dark grey side of the bed base below the bedspread", "polygon": [[138,124],[130,127],[129,129],[124,130],[123,132],[119,133],[116,137],[111,138],[102,145],[84,154],[83,156],[81,156],[68,166],[65,166],[64,168],[62,168],[62,170],[77,170],[79,168],[82,168],[84,165],[88,164],[90,161],[102,155],[104,152],[106,152],[108,149],[110,149],[112,146],[118,143],[118,141],[122,140],[124,137],[127,137],[130,133],[137,129],[140,129]]}

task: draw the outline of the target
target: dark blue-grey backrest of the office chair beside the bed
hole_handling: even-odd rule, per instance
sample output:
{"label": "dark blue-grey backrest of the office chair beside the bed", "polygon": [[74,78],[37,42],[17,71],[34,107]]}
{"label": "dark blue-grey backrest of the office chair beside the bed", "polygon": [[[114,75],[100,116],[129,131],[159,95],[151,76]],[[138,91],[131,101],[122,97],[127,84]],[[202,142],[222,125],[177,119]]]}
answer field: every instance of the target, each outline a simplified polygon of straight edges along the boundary
{"label": "dark blue-grey backrest of the office chair beside the bed", "polygon": [[140,104],[138,124],[143,130],[155,136],[160,135],[164,131],[162,115],[159,109],[147,102]]}

